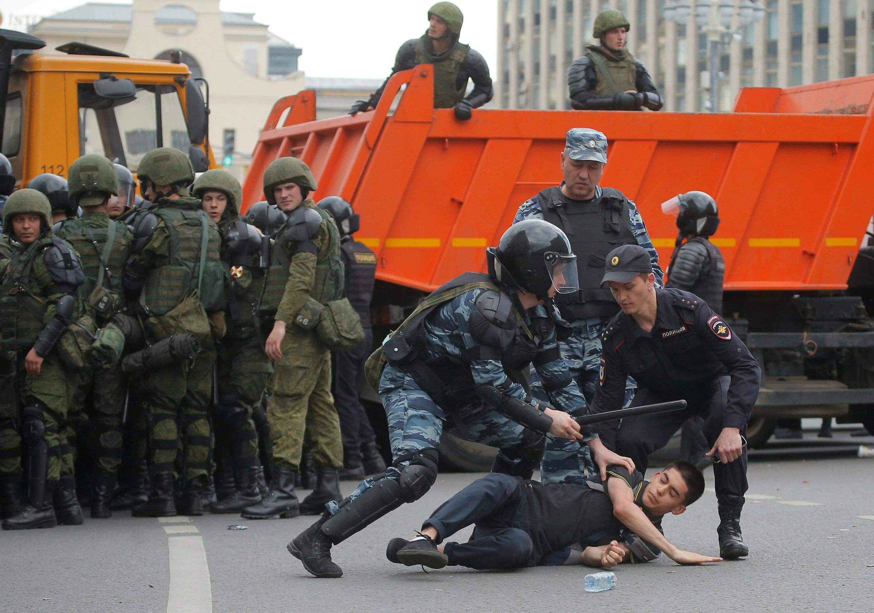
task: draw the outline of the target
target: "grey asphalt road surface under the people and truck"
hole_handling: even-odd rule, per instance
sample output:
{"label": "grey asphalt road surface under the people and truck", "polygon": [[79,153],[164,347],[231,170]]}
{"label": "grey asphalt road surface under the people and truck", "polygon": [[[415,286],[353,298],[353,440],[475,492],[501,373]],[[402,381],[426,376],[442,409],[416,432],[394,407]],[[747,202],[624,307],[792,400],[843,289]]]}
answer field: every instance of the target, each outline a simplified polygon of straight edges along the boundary
{"label": "grey asphalt road surface under the people and truck", "polygon": [[[808,433],[805,441],[754,451],[742,521],[748,559],[680,567],[662,557],[623,565],[616,589],[606,593],[583,591],[590,571],[581,567],[426,574],[386,561],[388,540],[410,538],[435,506],[478,477],[442,474],[425,498],[335,547],[342,579],[310,576],[285,549],[313,518],[161,522],[116,513],[84,526],[0,533],[0,602],[16,613],[870,610],[874,459],[851,455],[859,444],[874,445],[874,438],[836,431],[822,441]],[[705,475],[712,487],[712,471]],[[678,546],[710,554],[718,553],[717,523],[712,491],[664,522]],[[229,524],[248,529],[229,531]]]}

